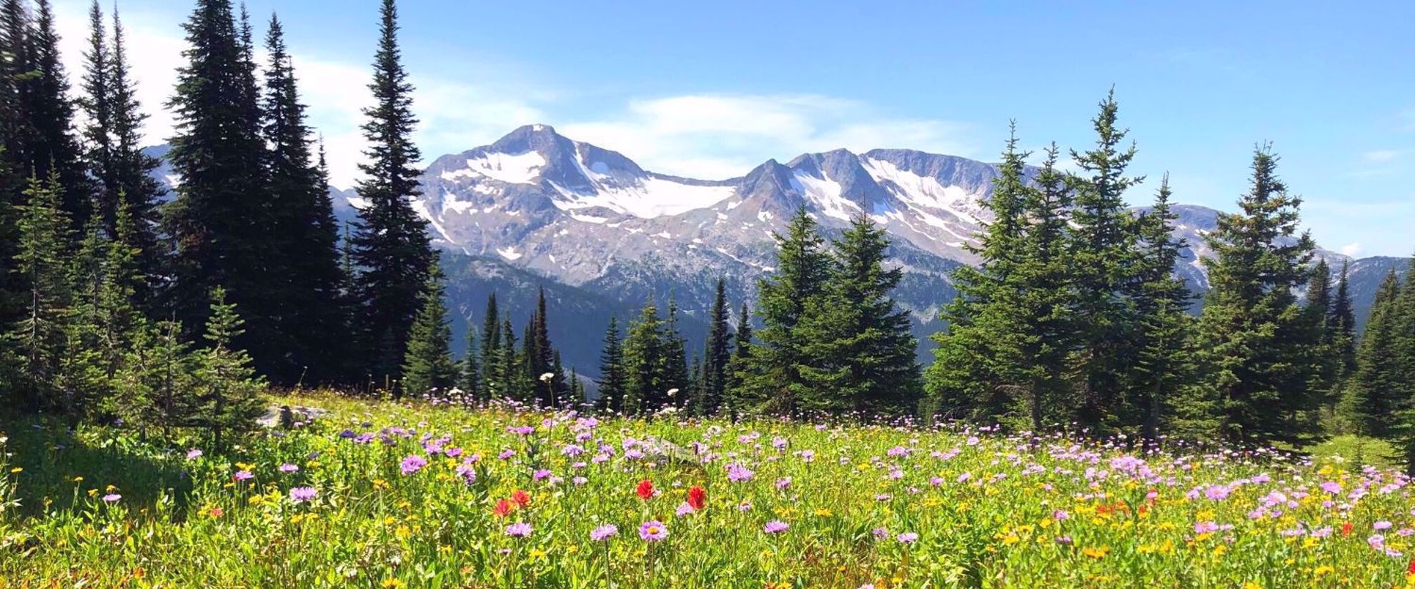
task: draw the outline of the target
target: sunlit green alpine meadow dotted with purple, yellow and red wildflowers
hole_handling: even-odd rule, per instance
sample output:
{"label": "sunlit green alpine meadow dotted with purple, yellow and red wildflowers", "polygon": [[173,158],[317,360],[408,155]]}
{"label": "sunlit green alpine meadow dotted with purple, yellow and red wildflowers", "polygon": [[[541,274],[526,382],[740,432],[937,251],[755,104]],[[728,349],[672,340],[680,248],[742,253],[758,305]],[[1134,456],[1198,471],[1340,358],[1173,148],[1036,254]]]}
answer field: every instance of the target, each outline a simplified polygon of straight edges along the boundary
{"label": "sunlit green alpine meadow dotted with purple, yellow and red wildflowers", "polygon": [[[1354,438],[1317,448],[1340,463],[1139,458],[964,429],[287,401],[331,412],[224,456],[6,422],[0,586],[1392,588],[1415,549],[1407,477],[1339,468],[1390,451]],[[652,521],[666,538],[641,537]]]}

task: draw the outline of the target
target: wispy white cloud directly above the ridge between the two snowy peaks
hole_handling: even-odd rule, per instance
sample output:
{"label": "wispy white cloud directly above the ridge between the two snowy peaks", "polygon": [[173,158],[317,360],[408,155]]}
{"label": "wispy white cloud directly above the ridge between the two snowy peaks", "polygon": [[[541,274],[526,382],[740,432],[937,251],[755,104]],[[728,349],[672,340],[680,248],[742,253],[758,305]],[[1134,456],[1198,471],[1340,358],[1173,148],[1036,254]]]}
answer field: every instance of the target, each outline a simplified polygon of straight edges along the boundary
{"label": "wispy white cloud directly above the ridge between the two snowy peaks", "polygon": [[901,119],[819,95],[685,95],[633,100],[623,113],[559,127],[648,169],[696,178],[741,175],[768,158],[910,147],[971,155],[959,123]]}

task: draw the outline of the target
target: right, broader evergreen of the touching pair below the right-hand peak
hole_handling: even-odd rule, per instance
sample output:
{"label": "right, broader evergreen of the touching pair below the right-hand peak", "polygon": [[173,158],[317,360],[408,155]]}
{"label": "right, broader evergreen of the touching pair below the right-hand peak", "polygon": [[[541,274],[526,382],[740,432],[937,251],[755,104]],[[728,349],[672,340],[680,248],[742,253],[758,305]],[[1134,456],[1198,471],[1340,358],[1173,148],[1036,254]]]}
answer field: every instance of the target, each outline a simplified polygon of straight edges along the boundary
{"label": "right, broader evergreen of the touching pair below the right-hand peak", "polygon": [[886,229],[857,215],[835,242],[832,275],[799,325],[812,362],[802,376],[812,393],[802,407],[860,417],[911,412],[921,381],[908,315],[890,297],[903,280],[884,268]]}

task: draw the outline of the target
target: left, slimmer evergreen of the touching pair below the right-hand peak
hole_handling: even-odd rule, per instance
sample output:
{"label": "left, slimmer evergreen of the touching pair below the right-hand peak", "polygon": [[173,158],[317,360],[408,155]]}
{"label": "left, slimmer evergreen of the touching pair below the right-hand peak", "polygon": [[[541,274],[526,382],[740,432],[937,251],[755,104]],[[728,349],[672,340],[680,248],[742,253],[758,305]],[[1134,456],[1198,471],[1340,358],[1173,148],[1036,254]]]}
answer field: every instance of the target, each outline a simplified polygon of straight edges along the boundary
{"label": "left, slimmer evergreen of the touching pair below the right-hand peak", "polygon": [[787,223],[787,233],[774,233],[775,274],[757,287],[757,311],[764,326],[757,331],[750,362],[741,370],[737,410],[791,414],[798,400],[814,394],[801,374],[808,357],[798,326],[811,311],[809,302],[825,290],[831,258],[824,239],[805,208]]}

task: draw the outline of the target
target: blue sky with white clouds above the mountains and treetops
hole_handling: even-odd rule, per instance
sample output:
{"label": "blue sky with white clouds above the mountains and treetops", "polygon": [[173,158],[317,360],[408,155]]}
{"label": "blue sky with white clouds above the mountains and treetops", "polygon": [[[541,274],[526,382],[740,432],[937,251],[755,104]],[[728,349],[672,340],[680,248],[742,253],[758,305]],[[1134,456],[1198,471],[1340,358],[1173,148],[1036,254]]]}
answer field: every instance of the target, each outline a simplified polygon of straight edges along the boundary
{"label": "blue sky with white clouds above the mountains and treetops", "polygon": [[[260,30],[280,13],[348,185],[378,1],[248,4]],[[1009,119],[1030,148],[1085,147],[1114,85],[1152,178],[1132,202],[1167,171],[1177,201],[1231,210],[1254,144],[1272,141],[1323,247],[1415,250],[1415,3],[964,4],[403,0],[402,40],[427,157],[549,123],[693,177],[835,147],[992,161]],[[72,56],[86,6],[57,0]],[[190,3],[120,7],[164,137]]]}

